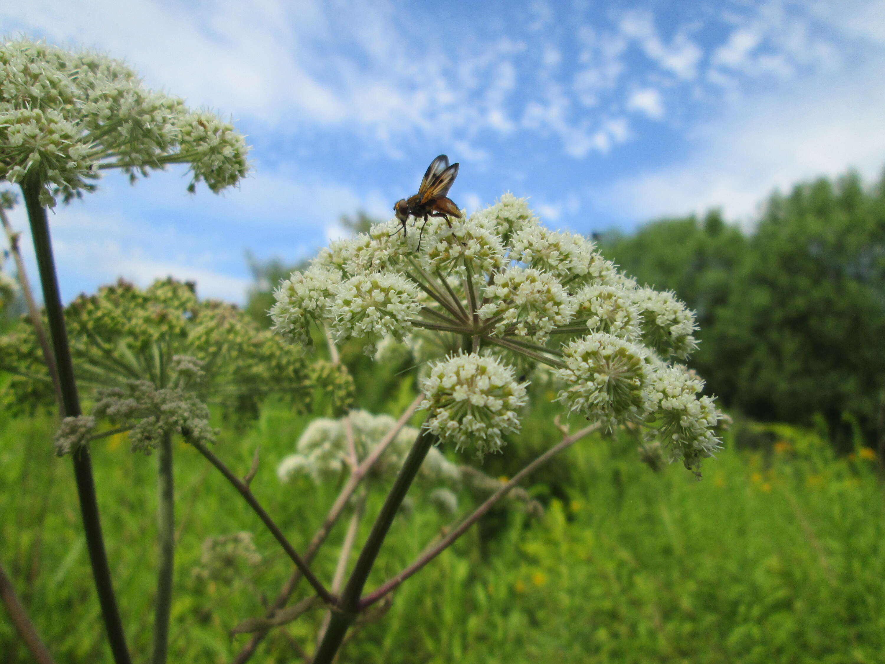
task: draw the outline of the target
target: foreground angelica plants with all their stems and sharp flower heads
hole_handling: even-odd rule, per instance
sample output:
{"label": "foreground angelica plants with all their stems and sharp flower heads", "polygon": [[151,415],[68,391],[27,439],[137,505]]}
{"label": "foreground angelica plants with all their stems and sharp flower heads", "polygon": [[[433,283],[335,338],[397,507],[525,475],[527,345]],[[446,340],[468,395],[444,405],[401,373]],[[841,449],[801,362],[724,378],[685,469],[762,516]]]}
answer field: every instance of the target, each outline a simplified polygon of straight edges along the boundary
{"label": "foreground angelica plants with all their stems and sharp flower heads", "polygon": [[[414,221],[410,227],[390,220],[354,239],[332,243],[309,269],[283,282],[276,294],[274,330],[289,342],[310,345],[312,326],[321,328],[329,339],[332,367],[338,364],[335,344],[354,336],[370,354],[391,343],[407,344],[425,367],[421,397],[377,444],[366,448],[365,458],[356,452],[353,421],[345,421],[344,440],[354,451],[348,455],[348,480],[300,555],[250,490],[258,458],[241,479],[209,449],[214,432],[205,405],[207,395],[221,384],[212,382],[212,376],[225,376],[240,387],[254,379],[260,384],[266,377],[261,371],[285,369],[289,360],[278,360],[291,359],[299,351],[283,351],[269,339],[255,346],[254,337],[241,334],[236,316],[227,315],[224,305],[218,305],[215,318],[207,314],[212,326],[204,329],[206,345],[197,344],[199,336],[191,336],[193,330],[188,329],[191,314],[181,315],[189,297],[176,288],[169,293],[160,288],[152,295],[166,297],[162,306],[178,312],[159,315],[160,327],[166,328],[154,335],[150,324],[138,327],[139,313],[151,311],[151,305],[123,284],[105,292],[104,300],[100,295],[75,303],[80,308],[69,314],[77,334],[69,340],[46,217],[46,208],[55,206],[58,198],[66,201],[95,189],[104,169],[122,169],[135,180],[166,164],[187,163],[193,174],[189,189],[205,181],[219,191],[246,173],[245,155],[243,138],[233,127],[211,113],[191,112],[180,100],[143,89],[135,73],[115,60],[27,41],[6,42],[0,48],[0,179],[19,184],[27,206],[65,418],[58,450],[70,452],[74,459],[96,589],[118,664],[129,657],[89,462],[89,441],[114,429],[95,433],[99,419],[130,430],[136,449],[159,451],[161,556],[151,655],[156,664],[166,657],[171,601],[173,434],[183,436],[225,475],[296,566],[272,610],[254,622],[258,631],[236,661],[250,657],[267,629],[304,610],[304,603],[283,608],[304,576],[319,601],[333,609],[314,664],[334,660],[358,618],[365,619],[381,600],[389,601],[400,583],[452,544],[522,478],[590,431],[622,424],[641,428],[646,449],[657,439],[669,459],[680,459],[696,474],[701,459],[718,447],[720,413],[712,398],[701,396],[703,382],[674,363],[687,358],[696,344],[693,315],[672,293],[641,288],[596,253],[587,239],[545,228],[524,200],[511,195],[469,218],[432,219],[420,231]],[[135,312],[133,320],[116,315],[119,305]],[[216,334],[218,329],[222,331]],[[86,339],[80,348],[74,338],[78,336]],[[109,341],[112,337],[116,340]],[[248,340],[250,350],[262,350],[239,365],[245,368],[238,374],[237,360],[227,355],[222,337]],[[0,358],[30,361],[38,371],[35,344],[16,344],[0,347]],[[185,347],[190,351],[181,352]],[[82,383],[91,382],[95,388],[96,407],[87,417],[81,414],[72,351],[83,362]],[[49,353],[44,354],[47,366],[52,366]],[[527,377],[541,375],[558,382],[557,400],[568,412],[592,423],[575,434],[564,428],[560,443],[501,483],[412,565],[364,596],[366,579],[412,481],[428,455],[442,459],[431,452],[435,444],[469,448],[478,458],[502,452],[519,432],[519,413],[528,400]],[[12,389],[24,384],[15,383]],[[37,396],[39,390],[34,390]],[[244,397],[254,406],[258,391],[238,388],[228,397]],[[394,443],[419,405],[427,415],[405,452]],[[381,459],[389,447],[399,449],[404,458],[390,466],[399,465],[396,479],[347,582],[342,583],[346,560],[336,574],[334,585],[343,585],[339,596],[312,573],[310,562],[362,480],[375,464],[375,472],[385,467]],[[435,499],[450,503],[443,494]]]}

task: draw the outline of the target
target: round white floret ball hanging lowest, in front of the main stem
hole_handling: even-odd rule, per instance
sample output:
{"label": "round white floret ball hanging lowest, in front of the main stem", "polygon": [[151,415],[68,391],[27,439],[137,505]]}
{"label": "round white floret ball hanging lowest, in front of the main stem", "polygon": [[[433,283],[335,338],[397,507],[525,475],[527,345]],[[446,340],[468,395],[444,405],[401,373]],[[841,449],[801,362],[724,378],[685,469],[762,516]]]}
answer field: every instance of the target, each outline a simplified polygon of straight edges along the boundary
{"label": "round white floret ball hanging lowest, in front of the main stem", "polygon": [[526,383],[493,357],[458,353],[436,363],[423,382],[424,426],[443,443],[473,445],[476,455],[498,452],[504,434],[519,430],[516,411],[527,403]]}

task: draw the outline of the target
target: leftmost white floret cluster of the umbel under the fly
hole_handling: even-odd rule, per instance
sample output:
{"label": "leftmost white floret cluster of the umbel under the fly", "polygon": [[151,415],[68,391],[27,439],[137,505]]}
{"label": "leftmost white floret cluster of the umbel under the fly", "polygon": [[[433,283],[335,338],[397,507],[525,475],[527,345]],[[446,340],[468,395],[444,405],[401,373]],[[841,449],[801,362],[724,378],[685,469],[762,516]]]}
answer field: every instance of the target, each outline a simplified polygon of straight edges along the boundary
{"label": "leftmost white floret cluster of the umbel under the fly", "polygon": [[273,293],[273,331],[297,344],[311,345],[311,324],[321,325],[326,319],[340,282],[341,273],[324,266],[293,272]]}

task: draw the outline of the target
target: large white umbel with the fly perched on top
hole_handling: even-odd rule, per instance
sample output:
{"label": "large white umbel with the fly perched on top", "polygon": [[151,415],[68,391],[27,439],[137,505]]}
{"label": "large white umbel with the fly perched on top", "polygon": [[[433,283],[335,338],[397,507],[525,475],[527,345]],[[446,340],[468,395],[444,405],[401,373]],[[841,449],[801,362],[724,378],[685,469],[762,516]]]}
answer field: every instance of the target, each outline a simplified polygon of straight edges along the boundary
{"label": "large white umbel with the fly perched on top", "polygon": [[718,444],[712,398],[686,387],[676,408],[658,397],[669,362],[696,348],[694,314],[621,274],[588,238],[544,227],[512,194],[469,217],[393,219],[331,243],[281,284],[272,317],[296,343],[316,327],[370,352],[411,351],[425,426],[479,456],[519,430],[527,396],[516,376],[538,366],[560,383],[560,402],[606,429],[663,422],[666,448],[691,467]]}

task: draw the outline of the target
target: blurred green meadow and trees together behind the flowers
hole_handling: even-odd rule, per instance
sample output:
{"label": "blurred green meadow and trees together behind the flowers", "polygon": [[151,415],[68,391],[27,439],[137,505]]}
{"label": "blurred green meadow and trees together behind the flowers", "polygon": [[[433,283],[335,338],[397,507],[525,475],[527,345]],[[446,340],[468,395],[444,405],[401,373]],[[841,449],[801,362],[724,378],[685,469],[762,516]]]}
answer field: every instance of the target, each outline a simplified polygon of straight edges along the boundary
{"label": "blurred green meadow and trees together behind the flowers", "polygon": [[[349,221],[355,229],[367,222]],[[848,174],[798,185],[771,197],[751,232],[710,212],[599,241],[641,282],[673,289],[697,310],[694,364],[737,418],[725,451],[698,483],[681,467],[656,474],[638,463],[627,432],[582,441],[533,476],[543,519],[489,514],[405,583],[342,661],[885,660],[885,502],[875,452],[885,437],[885,181],[866,187]],[[252,266],[247,311],[263,321],[270,284],[290,266]],[[411,401],[408,363],[369,363],[356,344],[342,349],[342,361],[358,406],[396,416]],[[484,471],[512,475],[558,439],[558,408],[545,386],[532,389],[538,398],[523,435]],[[326,413],[297,414],[272,400],[217,449],[242,473],[260,446],[252,486],[301,548],[337,487],[283,485],[274,470],[316,414]],[[52,455],[55,426],[47,414],[0,413],[0,553],[59,661],[110,661],[69,462]],[[170,656],[225,662],[246,640],[229,629],[262,614],[290,564],[204,459],[184,445],[177,452]],[[155,461],[128,452],[122,436],[96,442],[93,454],[121,612],[135,660],[144,660]],[[473,501],[459,498],[462,509]],[[378,507],[370,501],[364,531]],[[414,506],[396,522],[370,585],[411,561],[450,519]],[[207,569],[205,539],[242,530],[254,533],[261,560]],[[322,578],[333,573],[342,537],[339,526],[315,562]],[[276,630],[255,661],[297,660],[291,640],[310,650],[320,619],[308,614]],[[4,620],[0,660],[28,661]]]}

